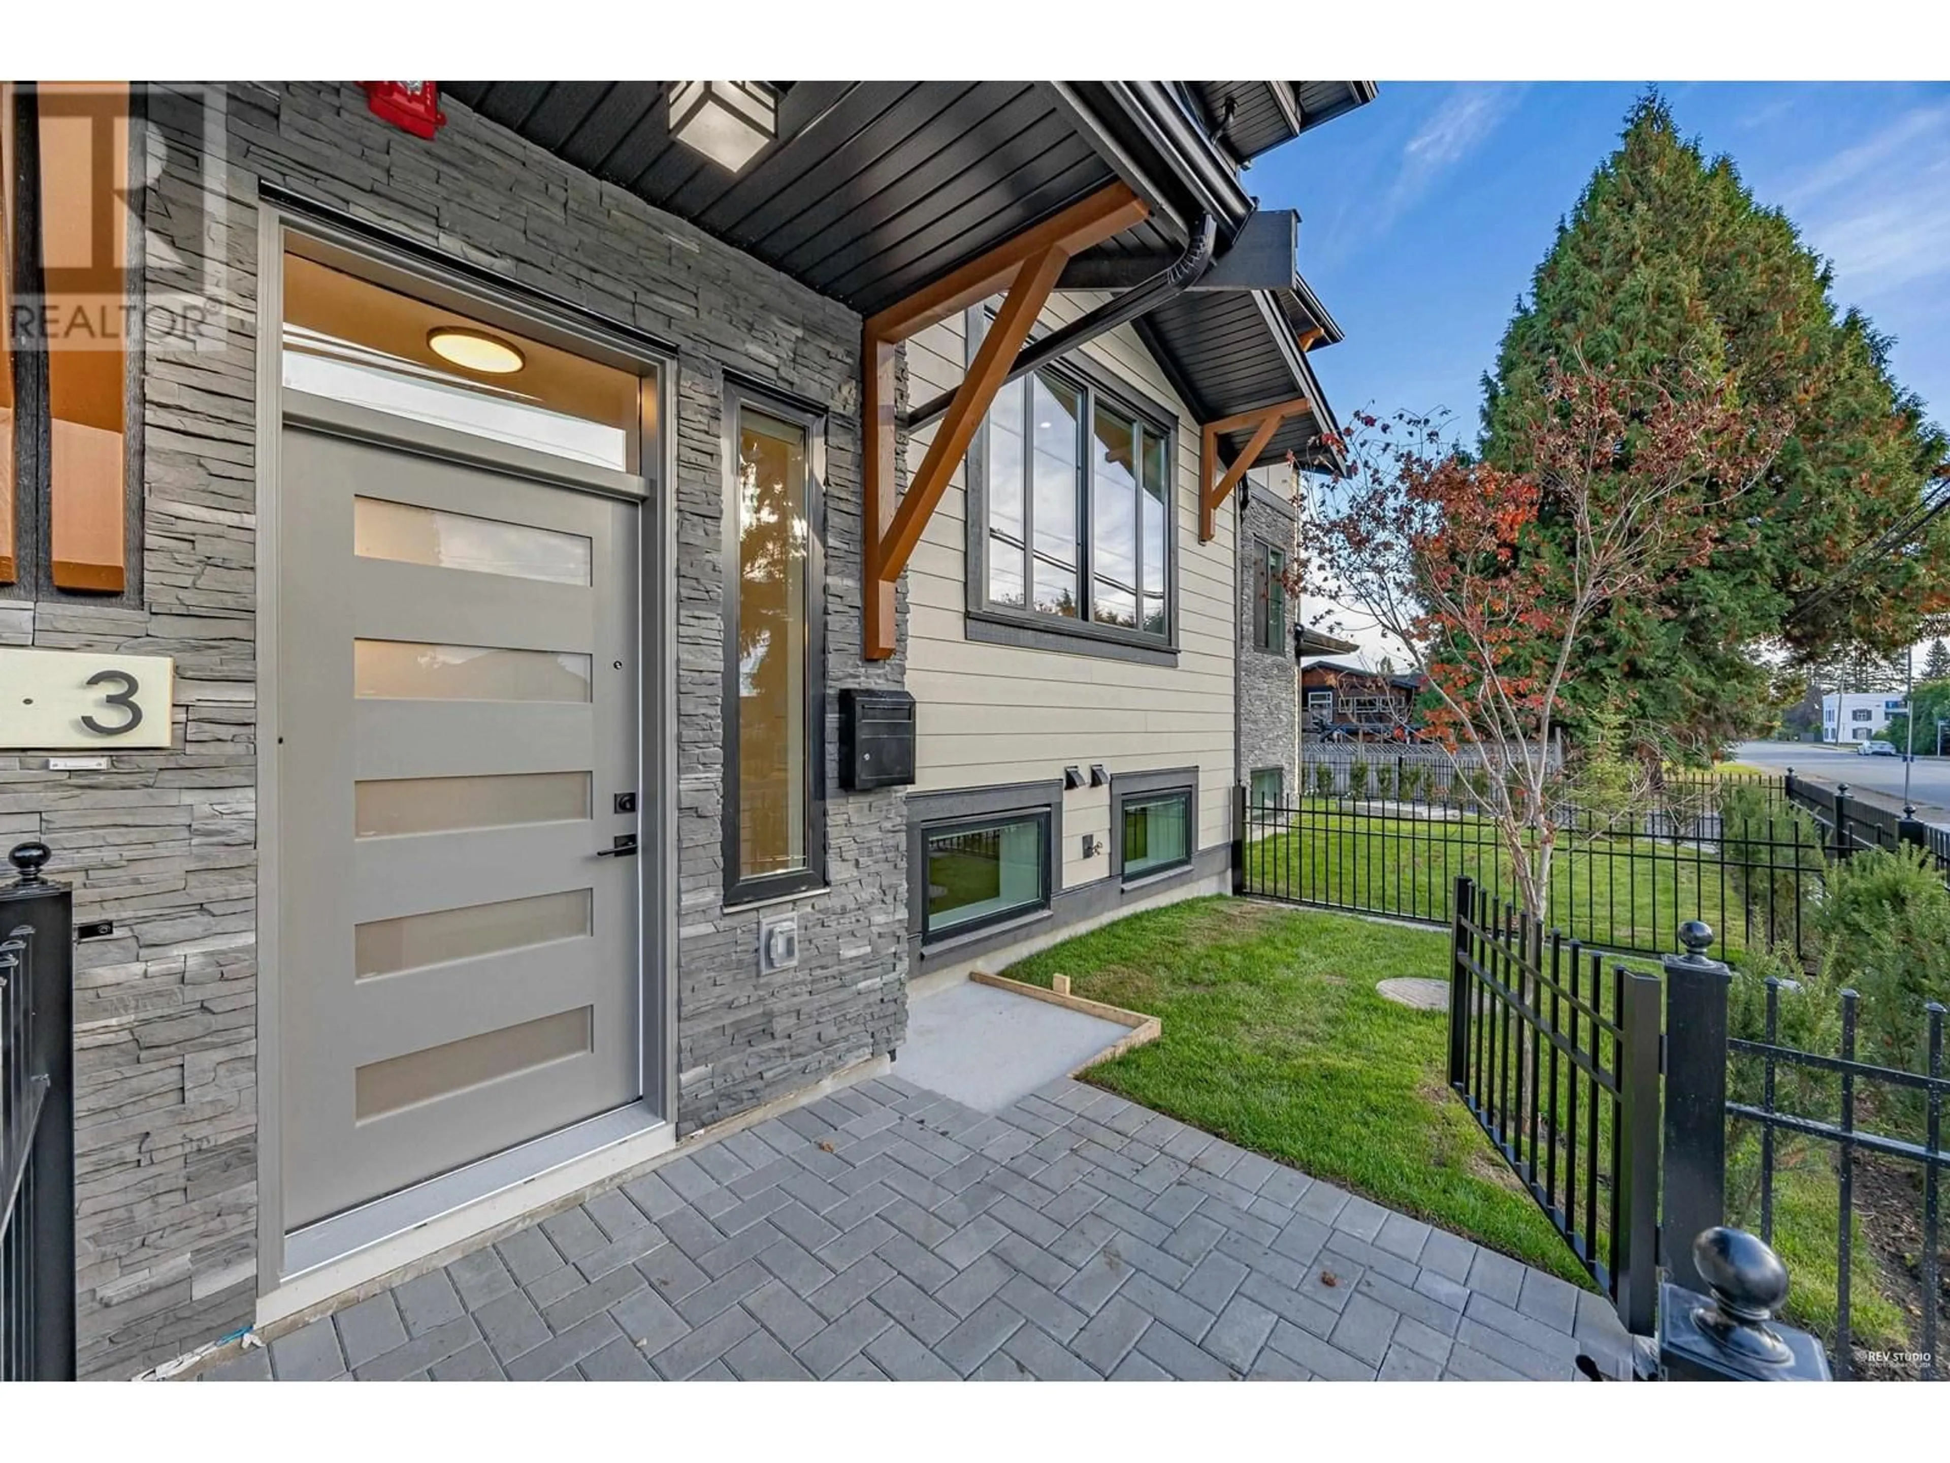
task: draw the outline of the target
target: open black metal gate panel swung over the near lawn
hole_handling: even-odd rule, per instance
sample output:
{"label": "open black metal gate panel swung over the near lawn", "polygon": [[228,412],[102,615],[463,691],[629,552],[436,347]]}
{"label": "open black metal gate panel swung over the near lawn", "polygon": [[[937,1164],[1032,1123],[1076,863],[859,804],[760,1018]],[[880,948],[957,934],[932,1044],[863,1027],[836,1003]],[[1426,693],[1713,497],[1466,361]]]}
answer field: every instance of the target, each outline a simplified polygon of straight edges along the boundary
{"label": "open black metal gate panel swung over the near lawn", "polygon": [[1449,1087],[1578,1264],[1650,1334],[1658,1293],[1659,981],[1462,876]]}

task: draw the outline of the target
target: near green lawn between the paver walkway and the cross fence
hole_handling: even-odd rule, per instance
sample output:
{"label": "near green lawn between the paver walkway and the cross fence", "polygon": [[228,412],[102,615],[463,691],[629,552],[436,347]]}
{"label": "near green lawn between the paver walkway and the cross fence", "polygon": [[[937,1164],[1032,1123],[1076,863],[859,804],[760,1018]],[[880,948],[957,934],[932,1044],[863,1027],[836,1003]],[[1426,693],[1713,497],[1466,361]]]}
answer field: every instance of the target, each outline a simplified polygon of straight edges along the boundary
{"label": "near green lawn between the paver walkway and the cross fence", "polygon": [[[1447,1016],[1375,991],[1445,975],[1447,950],[1435,930],[1221,897],[1131,915],[1006,973],[1063,973],[1078,995],[1162,1018],[1156,1042],[1086,1081],[1591,1287],[1447,1090]],[[1831,1325],[1833,1172],[1784,1165],[1776,1184],[1790,1305]],[[1895,1315],[1866,1252],[1858,1243],[1854,1326],[1872,1344]]]}

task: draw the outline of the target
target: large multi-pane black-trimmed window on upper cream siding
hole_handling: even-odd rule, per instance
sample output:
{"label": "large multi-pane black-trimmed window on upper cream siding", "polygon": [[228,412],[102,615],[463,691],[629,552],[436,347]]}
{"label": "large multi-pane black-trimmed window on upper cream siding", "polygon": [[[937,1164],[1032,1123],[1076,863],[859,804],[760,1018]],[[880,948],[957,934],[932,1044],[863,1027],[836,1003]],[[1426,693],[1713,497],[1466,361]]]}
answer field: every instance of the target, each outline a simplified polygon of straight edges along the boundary
{"label": "large multi-pane black-trimmed window on upper cream siding", "polygon": [[1170,414],[1082,363],[1006,384],[969,453],[971,614],[1168,653],[1174,453]]}

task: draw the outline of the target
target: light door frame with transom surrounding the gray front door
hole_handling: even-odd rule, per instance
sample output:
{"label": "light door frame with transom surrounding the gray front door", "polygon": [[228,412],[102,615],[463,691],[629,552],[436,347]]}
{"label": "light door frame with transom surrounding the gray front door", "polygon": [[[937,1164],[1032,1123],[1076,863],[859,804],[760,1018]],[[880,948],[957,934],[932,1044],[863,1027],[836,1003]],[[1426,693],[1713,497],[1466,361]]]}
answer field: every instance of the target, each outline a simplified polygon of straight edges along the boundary
{"label": "light door frame with transom surrounding the gray front door", "polygon": [[[513,462],[519,470],[544,472],[562,482],[638,497],[640,595],[640,839],[642,899],[640,999],[644,1020],[642,1098],[622,1114],[604,1114],[560,1133],[468,1165],[454,1174],[417,1184],[402,1194],[324,1221],[337,1229],[314,1243],[291,1246],[283,1217],[283,1112],[281,1112],[281,987],[279,987],[279,464],[285,427],[281,373],[283,283],[287,240],[304,252],[388,289],[452,304],[489,324],[544,339],[628,371],[655,371],[655,392],[645,392],[642,464],[624,486],[616,474],[577,470],[573,462],[536,462],[523,449],[501,453],[493,443],[468,441],[476,460]],[[638,1163],[647,1151],[675,1143],[677,1127],[677,351],[626,328],[608,326],[575,306],[556,304],[486,279],[460,261],[421,244],[392,238],[386,230],[343,218],[335,211],[257,205],[257,1295],[289,1289],[302,1272],[314,1272],[353,1252],[382,1256],[392,1268],[411,1258],[411,1248],[388,1243],[423,1233],[431,1245],[503,1223],[521,1213],[515,1192],[546,1174],[587,1182],[591,1155],[614,1149],[618,1166]],[[378,433],[400,447],[421,451],[441,441],[413,423]],[[608,482],[604,480],[608,478]],[[644,1135],[651,1133],[647,1147]],[[499,1202],[497,1202],[499,1196]],[[536,1196],[536,1202],[546,1202]],[[460,1219],[470,1211],[472,1219]],[[460,1219],[456,1223],[456,1219]],[[347,1223],[351,1221],[351,1223]],[[314,1225],[308,1235],[316,1235]],[[294,1254],[292,1248],[298,1252]],[[370,1264],[365,1266],[370,1270]],[[376,1270],[374,1274],[380,1274]],[[335,1287],[335,1285],[333,1285]],[[308,1289],[318,1289],[310,1285]],[[330,1293],[330,1289],[326,1289]]]}

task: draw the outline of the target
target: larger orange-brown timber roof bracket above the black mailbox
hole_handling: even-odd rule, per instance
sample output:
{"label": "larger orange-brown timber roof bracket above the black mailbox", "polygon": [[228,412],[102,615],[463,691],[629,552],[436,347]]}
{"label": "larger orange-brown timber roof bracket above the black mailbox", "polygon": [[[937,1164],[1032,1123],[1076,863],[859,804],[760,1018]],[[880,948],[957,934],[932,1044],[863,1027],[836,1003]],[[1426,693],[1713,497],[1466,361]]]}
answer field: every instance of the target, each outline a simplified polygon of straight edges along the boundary
{"label": "larger orange-brown timber roof bracket above the black mailbox", "polygon": [[[1071,256],[1102,244],[1112,234],[1150,215],[1125,183],[1112,183],[1063,213],[998,244],[948,277],[916,291],[899,304],[868,316],[860,339],[860,427],[864,439],[862,525],[866,575],[862,581],[862,653],[887,659],[895,648],[895,585],[920,542],[956,464],[963,458],[989,406],[1008,378],[1018,351],[1030,337],[1057,277]],[[907,492],[897,492],[895,349],[901,341],[940,324],[967,306],[1004,291],[1002,308],[983,336],[967,376],[934,427],[934,441]]]}

